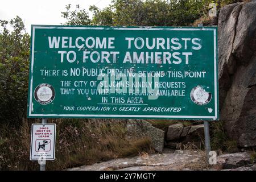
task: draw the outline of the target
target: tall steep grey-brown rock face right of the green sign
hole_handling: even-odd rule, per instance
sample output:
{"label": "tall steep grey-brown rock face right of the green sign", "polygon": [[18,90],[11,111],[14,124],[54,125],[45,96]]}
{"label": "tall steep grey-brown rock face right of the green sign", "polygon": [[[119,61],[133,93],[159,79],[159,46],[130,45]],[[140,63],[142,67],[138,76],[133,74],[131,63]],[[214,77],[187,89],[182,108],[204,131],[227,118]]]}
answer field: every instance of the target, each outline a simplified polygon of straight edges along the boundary
{"label": "tall steep grey-brown rock face right of the green sign", "polygon": [[223,7],[218,18],[220,119],[240,147],[256,146],[256,2]]}

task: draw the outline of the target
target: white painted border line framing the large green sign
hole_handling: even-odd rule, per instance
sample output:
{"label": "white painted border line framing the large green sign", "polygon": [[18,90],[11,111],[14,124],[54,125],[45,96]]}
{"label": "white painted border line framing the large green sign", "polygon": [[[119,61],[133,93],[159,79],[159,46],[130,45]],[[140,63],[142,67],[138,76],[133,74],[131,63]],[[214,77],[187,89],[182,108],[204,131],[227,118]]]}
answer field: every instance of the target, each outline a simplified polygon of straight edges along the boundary
{"label": "white painted border line framing the large green sign", "polygon": [[[171,31],[213,31],[214,46],[214,116],[205,115],[123,115],[123,114],[32,114],[32,85],[34,67],[34,43],[36,29],[68,29],[68,30],[171,30]],[[216,27],[109,27],[109,26],[55,26],[55,25],[31,25],[31,46],[30,46],[30,76],[28,86],[28,118],[152,118],[152,119],[201,119],[218,120],[218,60],[217,60],[217,26]]]}

